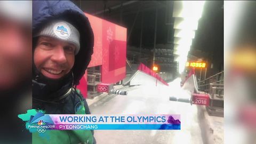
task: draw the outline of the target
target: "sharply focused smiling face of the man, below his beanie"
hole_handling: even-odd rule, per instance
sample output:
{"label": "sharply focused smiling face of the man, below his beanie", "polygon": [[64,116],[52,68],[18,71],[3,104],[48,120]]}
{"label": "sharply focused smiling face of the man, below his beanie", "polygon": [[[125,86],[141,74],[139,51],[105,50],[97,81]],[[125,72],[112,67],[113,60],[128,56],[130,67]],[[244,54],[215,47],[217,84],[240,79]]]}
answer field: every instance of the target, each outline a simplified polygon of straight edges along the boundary
{"label": "sharply focused smiling face of the man, below his beanie", "polygon": [[75,49],[74,44],[41,36],[34,52],[35,66],[44,76],[59,79],[73,68]]}

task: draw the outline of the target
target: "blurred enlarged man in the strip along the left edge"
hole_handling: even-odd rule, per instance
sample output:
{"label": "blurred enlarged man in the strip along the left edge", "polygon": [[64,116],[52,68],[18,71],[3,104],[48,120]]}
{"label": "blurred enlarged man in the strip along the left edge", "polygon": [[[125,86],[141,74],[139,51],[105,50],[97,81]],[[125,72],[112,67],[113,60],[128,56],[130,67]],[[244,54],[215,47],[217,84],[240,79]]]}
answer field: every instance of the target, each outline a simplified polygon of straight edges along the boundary
{"label": "blurred enlarged man in the strip along the left edge", "polygon": [[31,109],[31,9],[29,1],[0,1],[0,143],[31,142],[17,117]]}

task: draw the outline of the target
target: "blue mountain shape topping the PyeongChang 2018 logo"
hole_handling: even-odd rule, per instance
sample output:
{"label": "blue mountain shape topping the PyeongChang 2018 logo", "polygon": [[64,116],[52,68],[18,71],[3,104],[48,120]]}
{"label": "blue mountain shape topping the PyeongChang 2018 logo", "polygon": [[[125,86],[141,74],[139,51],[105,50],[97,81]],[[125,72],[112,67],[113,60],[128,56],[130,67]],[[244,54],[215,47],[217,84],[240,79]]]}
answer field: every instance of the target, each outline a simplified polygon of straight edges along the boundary
{"label": "blue mountain shape topping the PyeongChang 2018 logo", "polygon": [[38,112],[35,116],[30,116],[30,119],[29,119],[30,124],[38,123],[39,121],[49,123],[49,124],[54,124],[49,115],[44,115],[41,112]]}

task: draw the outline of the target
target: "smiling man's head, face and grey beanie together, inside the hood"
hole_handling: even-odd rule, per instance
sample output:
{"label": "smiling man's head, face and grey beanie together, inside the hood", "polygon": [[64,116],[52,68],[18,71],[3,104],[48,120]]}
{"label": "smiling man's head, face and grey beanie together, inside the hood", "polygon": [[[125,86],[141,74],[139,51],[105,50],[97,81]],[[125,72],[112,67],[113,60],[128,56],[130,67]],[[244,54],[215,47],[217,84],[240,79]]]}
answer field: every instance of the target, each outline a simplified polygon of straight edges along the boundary
{"label": "smiling man's head, face and grey beanie together, inside the hood", "polygon": [[36,36],[36,68],[52,79],[67,75],[74,66],[75,55],[80,48],[78,30],[68,22],[53,21]]}

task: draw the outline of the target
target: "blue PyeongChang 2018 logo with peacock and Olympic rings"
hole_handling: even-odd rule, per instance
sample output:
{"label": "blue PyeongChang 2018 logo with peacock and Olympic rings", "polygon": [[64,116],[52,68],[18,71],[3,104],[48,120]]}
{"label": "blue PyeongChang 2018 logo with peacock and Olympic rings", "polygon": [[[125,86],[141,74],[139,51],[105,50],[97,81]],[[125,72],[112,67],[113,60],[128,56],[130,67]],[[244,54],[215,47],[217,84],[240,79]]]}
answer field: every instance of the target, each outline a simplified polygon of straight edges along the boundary
{"label": "blue PyeongChang 2018 logo with peacock and Olympic rings", "polygon": [[55,125],[49,115],[37,112],[35,116],[30,116],[28,129],[33,129],[39,133],[46,132],[47,129],[54,129]]}

